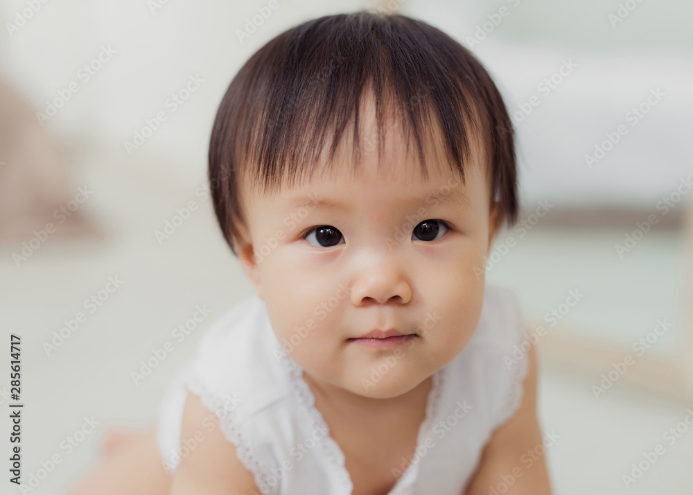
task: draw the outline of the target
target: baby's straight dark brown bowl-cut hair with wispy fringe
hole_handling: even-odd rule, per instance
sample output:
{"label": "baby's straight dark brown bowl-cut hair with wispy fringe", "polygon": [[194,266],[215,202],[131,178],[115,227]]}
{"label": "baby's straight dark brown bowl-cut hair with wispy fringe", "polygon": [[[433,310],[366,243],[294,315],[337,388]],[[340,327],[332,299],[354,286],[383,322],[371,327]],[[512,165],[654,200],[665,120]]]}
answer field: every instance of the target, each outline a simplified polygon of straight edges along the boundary
{"label": "baby's straight dark brown bowl-cut hair with wispy fringe", "polygon": [[[384,106],[403,123],[407,146],[413,132],[424,176],[427,129],[441,130],[448,162],[463,182],[471,139],[481,139],[498,225],[516,222],[514,132],[489,73],[467,49],[426,22],[362,10],[284,31],[231,80],[211,133],[209,180],[219,225],[234,254],[236,218],[245,223],[240,177],[267,192],[302,180],[308,168],[312,175],[325,140],[332,138],[329,163],[347,125],[352,119],[358,123],[367,91],[376,102],[378,153]],[[358,157],[358,125],[353,133]]]}

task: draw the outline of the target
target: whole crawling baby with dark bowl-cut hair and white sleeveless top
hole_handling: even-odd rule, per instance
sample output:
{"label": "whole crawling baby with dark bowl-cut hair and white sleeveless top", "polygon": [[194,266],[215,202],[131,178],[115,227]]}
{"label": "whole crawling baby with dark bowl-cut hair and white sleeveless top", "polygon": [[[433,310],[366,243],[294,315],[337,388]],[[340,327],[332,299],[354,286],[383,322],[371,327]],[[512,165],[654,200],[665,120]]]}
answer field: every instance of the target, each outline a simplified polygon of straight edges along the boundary
{"label": "whole crawling baby with dark bowl-cut hair and white sleeveless top", "polygon": [[534,351],[484,281],[518,216],[513,132],[466,49],[367,11],[278,35],[231,81],[209,179],[256,295],[73,494],[550,494],[520,461]]}

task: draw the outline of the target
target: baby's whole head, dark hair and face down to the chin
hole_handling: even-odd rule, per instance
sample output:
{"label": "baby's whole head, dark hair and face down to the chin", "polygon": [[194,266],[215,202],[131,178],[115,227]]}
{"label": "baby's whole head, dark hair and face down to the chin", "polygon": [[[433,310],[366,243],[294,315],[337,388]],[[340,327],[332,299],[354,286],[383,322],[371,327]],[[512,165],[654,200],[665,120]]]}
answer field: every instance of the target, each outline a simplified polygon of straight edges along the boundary
{"label": "baby's whole head, dark hair and face down to the chin", "polygon": [[[285,351],[367,397],[412,390],[464,349],[493,236],[518,213],[498,89],[401,15],[314,19],[254,53],[219,107],[209,178]],[[354,340],[376,329],[410,336]]]}

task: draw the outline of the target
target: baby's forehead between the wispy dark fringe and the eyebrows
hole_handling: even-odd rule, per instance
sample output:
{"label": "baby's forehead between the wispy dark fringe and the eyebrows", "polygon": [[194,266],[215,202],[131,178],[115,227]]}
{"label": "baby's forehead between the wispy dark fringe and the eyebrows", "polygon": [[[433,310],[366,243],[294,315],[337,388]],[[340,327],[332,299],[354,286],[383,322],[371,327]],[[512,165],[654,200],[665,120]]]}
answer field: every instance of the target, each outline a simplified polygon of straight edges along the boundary
{"label": "baby's forehead between the wispy dark fringe and the eyebrows", "polygon": [[[470,116],[463,118],[468,123],[462,141],[466,146],[451,149],[441,121],[432,119],[417,130],[396,103],[385,102],[378,110],[376,99],[373,92],[366,92],[358,123],[353,119],[342,132],[327,130],[324,141],[317,142],[313,130],[305,128],[295,136],[294,142],[301,144],[290,148],[285,161],[243,167],[254,175],[244,193],[248,207],[272,203],[288,211],[317,205],[311,200],[315,196],[340,196],[344,205],[350,200],[344,191],[354,198],[362,198],[365,191],[368,197],[383,196],[383,201],[402,207],[419,204],[422,198],[468,204],[470,192],[480,197],[482,189],[491,189],[492,167],[487,159],[491,144]],[[274,168],[274,183],[266,178],[269,168]],[[466,180],[477,173],[485,177]],[[467,191],[470,188],[477,191]]]}

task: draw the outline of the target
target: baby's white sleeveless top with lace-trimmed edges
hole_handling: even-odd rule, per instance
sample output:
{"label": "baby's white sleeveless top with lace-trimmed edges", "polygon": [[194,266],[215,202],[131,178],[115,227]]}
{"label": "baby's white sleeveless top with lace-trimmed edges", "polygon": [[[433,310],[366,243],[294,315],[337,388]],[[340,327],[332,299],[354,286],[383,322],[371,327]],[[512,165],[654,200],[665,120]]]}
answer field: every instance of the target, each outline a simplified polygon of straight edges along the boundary
{"label": "baby's white sleeveless top with lace-trimmed edges", "polygon": [[[527,358],[514,346],[523,340],[515,293],[487,283],[473,337],[433,375],[416,455],[406,469],[393,467],[393,480],[403,474],[389,495],[462,494],[491,433],[520,405]],[[265,302],[245,299],[205,333],[197,358],[164,397],[157,419],[164,466],[173,471],[193,446],[192,439],[180,444],[190,391],[219,418],[263,494],[351,494],[344,454],[301,372],[274,336]]]}

